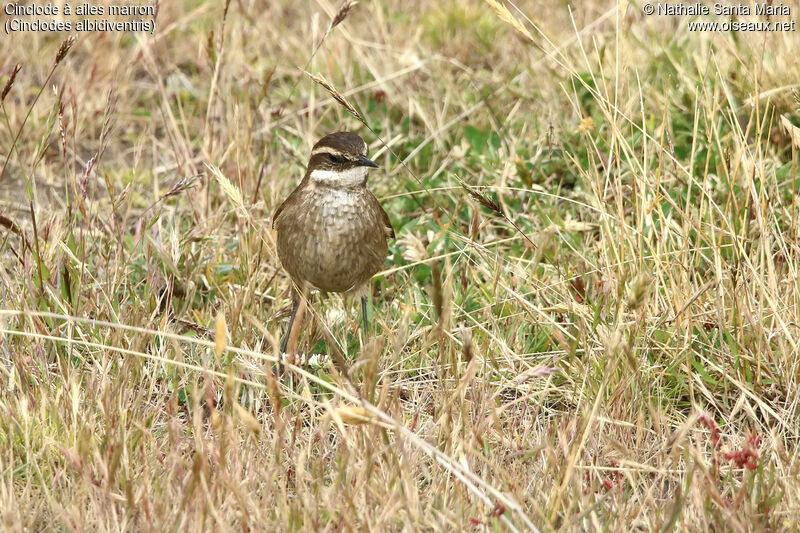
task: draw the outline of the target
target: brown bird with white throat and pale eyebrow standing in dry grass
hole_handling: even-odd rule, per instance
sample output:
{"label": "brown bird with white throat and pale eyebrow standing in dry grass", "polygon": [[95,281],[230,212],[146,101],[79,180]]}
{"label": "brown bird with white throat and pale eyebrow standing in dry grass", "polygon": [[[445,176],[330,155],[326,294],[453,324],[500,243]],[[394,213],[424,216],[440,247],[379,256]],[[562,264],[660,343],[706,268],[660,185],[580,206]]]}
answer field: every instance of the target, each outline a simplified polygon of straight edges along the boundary
{"label": "brown bird with white throat and pale eyebrow standing in dry grass", "polygon": [[300,297],[312,288],[360,296],[367,333],[369,281],[394,238],[389,215],[367,188],[370,167],[378,165],[367,157],[361,137],[347,131],[326,135],[311,150],[303,180],[272,217],[278,257],[297,288],[282,352]]}

